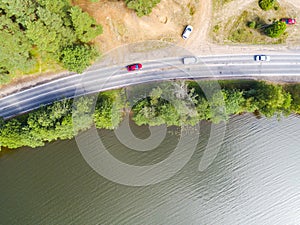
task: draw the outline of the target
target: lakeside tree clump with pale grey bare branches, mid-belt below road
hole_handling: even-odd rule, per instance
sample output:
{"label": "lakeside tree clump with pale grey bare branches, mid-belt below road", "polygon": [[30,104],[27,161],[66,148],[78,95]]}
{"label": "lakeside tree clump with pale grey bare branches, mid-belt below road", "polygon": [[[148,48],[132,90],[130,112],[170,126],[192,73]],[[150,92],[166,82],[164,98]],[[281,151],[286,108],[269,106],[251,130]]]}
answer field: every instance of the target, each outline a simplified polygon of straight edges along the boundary
{"label": "lakeside tree clump with pale grey bare branches, mid-belt below road", "polygon": [[195,104],[194,90],[186,82],[163,83],[133,107],[133,119],[138,125],[195,125],[199,122]]}

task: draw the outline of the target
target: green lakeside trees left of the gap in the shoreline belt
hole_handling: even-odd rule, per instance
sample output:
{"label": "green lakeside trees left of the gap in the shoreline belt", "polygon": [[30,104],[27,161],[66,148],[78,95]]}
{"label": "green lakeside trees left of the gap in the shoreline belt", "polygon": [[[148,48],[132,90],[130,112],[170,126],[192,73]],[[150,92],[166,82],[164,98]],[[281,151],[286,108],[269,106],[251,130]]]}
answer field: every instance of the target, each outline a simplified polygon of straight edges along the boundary
{"label": "green lakeside trees left of the gap in the shoreline belt", "polygon": [[[1,146],[11,149],[22,146],[35,148],[46,142],[70,139],[90,128],[93,123],[97,128],[113,129],[123,116],[122,91],[99,94],[95,109],[94,97],[82,96],[75,102],[64,99],[10,120],[0,118],[0,150]],[[114,110],[110,103],[116,106]],[[76,124],[73,123],[74,118]]]}

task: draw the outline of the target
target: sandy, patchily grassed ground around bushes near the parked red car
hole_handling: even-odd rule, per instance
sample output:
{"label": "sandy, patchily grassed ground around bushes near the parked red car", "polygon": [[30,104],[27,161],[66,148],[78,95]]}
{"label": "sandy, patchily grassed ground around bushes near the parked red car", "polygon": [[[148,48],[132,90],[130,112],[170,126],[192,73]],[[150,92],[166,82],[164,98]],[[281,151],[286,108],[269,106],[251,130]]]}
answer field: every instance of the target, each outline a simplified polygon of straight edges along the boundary
{"label": "sandy, patchily grassed ground around bushes near the parked red car", "polygon": [[222,9],[215,13],[211,36],[219,44],[239,41],[249,44],[299,44],[298,24],[288,26],[287,35],[282,35],[280,38],[269,38],[262,34],[262,30],[251,29],[247,26],[250,21],[256,21],[267,26],[274,20],[296,18],[300,14],[299,8],[295,8],[288,2],[279,1],[278,5],[278,10],[263,11],[258,6],[257,1],[236,0],[225,4]]}

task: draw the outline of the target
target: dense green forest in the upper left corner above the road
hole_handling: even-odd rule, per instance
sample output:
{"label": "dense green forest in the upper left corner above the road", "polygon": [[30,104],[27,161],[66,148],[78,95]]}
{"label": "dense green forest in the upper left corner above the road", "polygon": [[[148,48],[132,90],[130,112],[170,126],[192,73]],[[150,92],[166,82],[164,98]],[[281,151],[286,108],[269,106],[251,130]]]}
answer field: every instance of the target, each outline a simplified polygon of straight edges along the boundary
{"label": "dense green forest in the upper left corner above the road", "polygon": [[53,64],[81,73],[97,56],[91,41],[101,33],[69,0],[1,0],[0,84]]}

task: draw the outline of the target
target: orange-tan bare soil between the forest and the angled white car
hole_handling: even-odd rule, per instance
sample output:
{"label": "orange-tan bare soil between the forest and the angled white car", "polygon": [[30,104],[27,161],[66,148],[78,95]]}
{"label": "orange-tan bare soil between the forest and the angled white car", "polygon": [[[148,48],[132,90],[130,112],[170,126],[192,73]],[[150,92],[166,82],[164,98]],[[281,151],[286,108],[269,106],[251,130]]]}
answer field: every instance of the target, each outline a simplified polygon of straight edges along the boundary
{"label": "orange-tan bare soil between the forest and the angled white car", "polygon": [[102,52],[118,46],[146,40],[177,42],[185,25],[192,22],[190,8],[196,9],[197,0],[162,0],[149,16],[139,18],[133,10],[127,9],[124,1],[77,0],[84,11],[103,26],[103,34],[95,43]]}

